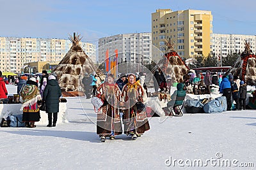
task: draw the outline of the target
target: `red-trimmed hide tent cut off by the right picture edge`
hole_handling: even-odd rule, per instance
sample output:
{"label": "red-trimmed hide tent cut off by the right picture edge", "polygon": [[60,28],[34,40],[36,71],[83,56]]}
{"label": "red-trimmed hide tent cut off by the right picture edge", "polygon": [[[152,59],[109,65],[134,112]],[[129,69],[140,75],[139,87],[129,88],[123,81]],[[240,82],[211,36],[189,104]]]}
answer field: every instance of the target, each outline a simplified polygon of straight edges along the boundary
{"label": "red-trimmed hide tent cut off by the right picture edge", "polygon": [[250,42],[244,43],[245,50],[236,60],[234,65],[228,69],[226,75],[232,74],[239,76],[240,80],[245,81],[248,85],[255,85],[256,83],[256,57],[250,50]]}

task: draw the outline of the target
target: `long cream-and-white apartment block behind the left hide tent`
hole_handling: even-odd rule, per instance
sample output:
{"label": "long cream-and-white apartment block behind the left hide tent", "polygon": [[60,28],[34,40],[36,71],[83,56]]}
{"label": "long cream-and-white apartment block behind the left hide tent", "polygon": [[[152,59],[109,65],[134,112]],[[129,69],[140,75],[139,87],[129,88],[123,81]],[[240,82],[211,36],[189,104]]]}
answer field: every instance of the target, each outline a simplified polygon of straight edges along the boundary
{"label": "long cream-and-white apartment block behind the left hide tent", "polygon": [[[96,61],[96,46],[80,42],[84,52]],[[24,63],[36,61],[60,62],[72,42],[67,39],[0,37],[0,70],[20,73]]]}

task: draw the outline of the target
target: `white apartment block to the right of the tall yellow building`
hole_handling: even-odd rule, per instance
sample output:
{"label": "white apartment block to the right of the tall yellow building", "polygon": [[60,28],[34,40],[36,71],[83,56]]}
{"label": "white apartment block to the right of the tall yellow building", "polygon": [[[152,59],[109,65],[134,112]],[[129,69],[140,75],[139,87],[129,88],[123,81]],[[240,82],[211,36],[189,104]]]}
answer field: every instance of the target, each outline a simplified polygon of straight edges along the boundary
{"label": "white apartment block to the right of the tall yellow building", "polygon": [[217,57],[227,57],[228,53],[244,51],[244,43],[249,41],[251,50],[256,52],[256,36],[241,34],[212,34],[212,53]]}

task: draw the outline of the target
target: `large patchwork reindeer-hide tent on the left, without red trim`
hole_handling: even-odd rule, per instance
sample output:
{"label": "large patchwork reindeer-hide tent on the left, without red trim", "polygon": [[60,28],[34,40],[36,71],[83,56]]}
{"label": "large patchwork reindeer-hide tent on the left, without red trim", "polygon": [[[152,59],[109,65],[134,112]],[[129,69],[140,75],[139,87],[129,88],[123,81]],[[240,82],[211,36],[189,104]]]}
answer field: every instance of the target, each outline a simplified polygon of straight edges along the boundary
{"label": "large patchwork reindeer-hide tent on the left, without red trim", "polygon": [[57,75],[60,88],[63,92],[83,91],[83,76],[85,73],[97,74],[100,79],[103,79],[104,74],[95,66],[92,60],[84,53],[79,41],[81,38],[70,36],[73,45],[61,60],[58,66],[54,69],[53,73]]}

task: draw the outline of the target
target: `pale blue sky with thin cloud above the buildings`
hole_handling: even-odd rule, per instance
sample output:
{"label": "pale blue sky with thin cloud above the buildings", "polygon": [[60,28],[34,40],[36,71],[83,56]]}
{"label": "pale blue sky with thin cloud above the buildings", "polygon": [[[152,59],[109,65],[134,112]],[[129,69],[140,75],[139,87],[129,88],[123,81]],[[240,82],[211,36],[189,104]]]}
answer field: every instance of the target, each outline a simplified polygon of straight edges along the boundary
{"label": "pale blue sky with thin cloud above the buildings", "polygon": [[0,0],[0,36],[83,39],[151,32],[156,9],[211,10],[213,32],[255,35],[255,0]]}

